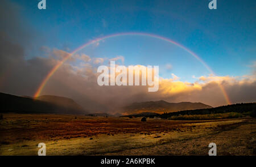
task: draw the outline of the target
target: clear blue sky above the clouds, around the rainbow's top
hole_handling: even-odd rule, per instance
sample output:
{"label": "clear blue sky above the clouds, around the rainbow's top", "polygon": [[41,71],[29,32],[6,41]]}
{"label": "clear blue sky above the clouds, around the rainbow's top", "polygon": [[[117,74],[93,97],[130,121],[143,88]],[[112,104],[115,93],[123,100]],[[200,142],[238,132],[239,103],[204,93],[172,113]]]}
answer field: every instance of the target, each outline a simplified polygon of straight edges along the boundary
{"label": "clear blue sky above the clouds, around the rainbow's top", "polygon": [[[219,76],[241,76],[251,72],[256,60],[256,2],[217,0],[209,10],[207,0],[197,1],[16,1],[24,26],[36,34],[33,52],[41,46],[72,52],[80,45],[114,33],[144,32],[170,38],[201,57]],[[159,65],[160,75],[171,73],[183,81],[209,71],[175,45],[150,37],[123,36],[107,39],[97,48],[82,50],[90,57],[123,55],[125,64]],[[166,69],[170,63],[172,69]]]}

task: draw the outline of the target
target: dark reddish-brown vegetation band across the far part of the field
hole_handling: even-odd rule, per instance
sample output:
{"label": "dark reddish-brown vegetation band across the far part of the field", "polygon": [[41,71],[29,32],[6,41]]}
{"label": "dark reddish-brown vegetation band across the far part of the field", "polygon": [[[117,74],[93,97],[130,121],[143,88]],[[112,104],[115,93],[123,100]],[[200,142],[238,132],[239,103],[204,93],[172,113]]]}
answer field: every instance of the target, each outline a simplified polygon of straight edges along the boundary
{"label": "dark reddish-brown vegetation band across the far part of the field", "polygon": [[[195,127],[184,127],[186,122],[129,118],[92,118],[74,115],[52,114],[5,114],[0,122],[0,142],[20,142],[22,140],[59,140],[90,138],[100,134],[152,134],[154,132],[192,131]],[[75,119],[77,118],[77,119]]]}

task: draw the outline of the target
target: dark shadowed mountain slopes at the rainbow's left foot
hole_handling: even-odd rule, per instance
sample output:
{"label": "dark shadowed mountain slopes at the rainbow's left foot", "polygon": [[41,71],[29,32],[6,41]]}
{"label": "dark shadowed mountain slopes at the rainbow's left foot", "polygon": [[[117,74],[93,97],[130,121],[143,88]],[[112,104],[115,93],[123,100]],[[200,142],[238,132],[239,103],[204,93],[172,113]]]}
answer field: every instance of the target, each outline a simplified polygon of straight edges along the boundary
{"label": "dark shadowed mountain slopes at the rainbow's left foot", "polygon": [[86,111],[72,99],[57,96],[45,96],[42,99],[44,100],[0,93],[0,112],[86,114]]}

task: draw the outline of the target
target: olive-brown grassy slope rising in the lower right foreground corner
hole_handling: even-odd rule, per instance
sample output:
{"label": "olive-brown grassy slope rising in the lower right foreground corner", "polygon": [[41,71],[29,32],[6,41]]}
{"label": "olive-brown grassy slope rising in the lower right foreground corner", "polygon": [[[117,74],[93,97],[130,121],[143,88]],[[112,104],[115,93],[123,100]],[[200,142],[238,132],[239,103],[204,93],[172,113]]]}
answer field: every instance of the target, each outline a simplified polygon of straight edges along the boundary
{"label": "olive-brown grassy slope rising in the lower right foreground corner", "polygon": [[256,122],[225,125],[222,130],[188,140],[152,147],[129,149],[104,155],[208,155],[208,144],[216,143],[218,156],[256,155]]}

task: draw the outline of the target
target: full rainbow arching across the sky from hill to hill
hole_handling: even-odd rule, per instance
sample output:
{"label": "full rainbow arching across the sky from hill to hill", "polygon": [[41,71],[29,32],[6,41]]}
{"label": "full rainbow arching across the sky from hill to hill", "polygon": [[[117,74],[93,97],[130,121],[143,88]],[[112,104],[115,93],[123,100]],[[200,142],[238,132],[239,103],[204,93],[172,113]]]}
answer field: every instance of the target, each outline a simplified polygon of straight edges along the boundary
{"label": "full rainbow arching across the sky from hill to hill", "polygon": [[[67,57],[65,57],[62,61],[60,61],[59,63],[57,63],[57,65],[55,67],[52,68],[51,71],[49,71],[49,73],[47,74],[47,76],[43,79],[42,83],[40,84],[39,88],[37,89],[37,91],[35,92],[34,98],[36,99],[36,97],[38,97],[40,95],[40,93],[42,92],[43,88],[45,87],[45,85],[47,84],[48,80],[51,78],[51,76],[57,71],[57,69],[63,65],[63,63],[65,61],[67,61],[67,59],[69,59],[70,57],[72,57],[72,55],[74,55],[75,53],[79,52],[81,49],[85,48],[86,46],[89,46],[91,44],[95,44],[96,42],[100,42],[102,40],[105,40],[107,38],[112,38],[112,37],[118,37],[118,36],[148,36],[148,37],[153,37],[153,38],[157,38],[159,40],[163,40],[166,42],[169,42],[171,44],[174,44],[176,46],[178,46],[179,48],[185,50],[186,52],[188,52],[189,54],[193,55],[193,57],[195,57],[198,61],[200,61],[209,72],[211,72],[213,75],[214,74],[213,70],[207,65],[207,63],[205,63],[203,61],[203,59],[201,59],[198,55],[196,55],[195,53],[193,53],[191,50],[189,50],[188,48],[185,48],[185,46],[170,40],[169,38],[166,37],[162,37],[162,36],[158,36],[158,35],[154,35],[151,33],[141,33],[141,32],[125,32],[125,33],[115,33],[113,35],[108,35],[108,36],[104,36],[104,37],[100,37],[100,38],[96,38],[95,40],[89,41],[87,43],[85,43],[84,45],[81,45],[79,48],[75,49],[72,53],[68,54]],[[218,84],[224,97],[225,100],[228,104],[231,104],[229,97],[224,89],[224,87],[222,87],[221,84]]]}

